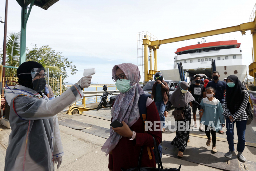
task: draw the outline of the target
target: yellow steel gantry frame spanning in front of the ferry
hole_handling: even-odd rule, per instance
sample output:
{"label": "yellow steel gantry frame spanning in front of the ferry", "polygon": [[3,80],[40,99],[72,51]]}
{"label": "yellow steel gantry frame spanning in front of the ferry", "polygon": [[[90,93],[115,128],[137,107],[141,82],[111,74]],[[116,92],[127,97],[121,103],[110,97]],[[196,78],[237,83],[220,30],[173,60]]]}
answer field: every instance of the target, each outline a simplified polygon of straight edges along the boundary
{"label": "yellow steel gantry frame spanning in front of the ferry", "polygon": [[[254,61],[249,65],[249,75],[254,77],[254,85],[255,85],[255,74],[256,74],[256,20],[255,20],[255,12],[256,12],[256,4],[254,5],[253,11],[251,13],[251,16],[249,18],[250,22],[240,24],[238,26],[232,26],[232,27],[227,27],[227,28],[222,28],[222,29],[217,29],[217,30],[211,30],[211,31],[206,31],[206,32],[201,32],[201,33],[196,33],[196,34],[189,34],[186,36],[180,36],[176,38],[168,38],[168,39],[163,39],[163,40],[150,40],[150,36],[146,35],[144,36],[144,39],[142,40],[142,45],[144,46],[144,81],[147,82],[149,80],[153,79],[153,75],[157,71],[157,49],[159,49],[160,45],[167,44],[167,43],[173,43],[173,42],[180,42],[184,40],[190,40],[190,39],[195,39],[195,38],[202,38],[202,37],[207,37],[207,36],[213,36],[213,35],[218,35],[218,34],[225,34],[225,33],[231,33],[231,32],[236,32],[236,31],[241,31],[242,35],[245,35],[245,31],[250,30],[253,38],[253,52],[254,52]],[[152,70],[152,62],[151,64],[151,70],[148,70],[148,48],[150,48],[154,51],[154,63],[155,67],[154,70]]]}

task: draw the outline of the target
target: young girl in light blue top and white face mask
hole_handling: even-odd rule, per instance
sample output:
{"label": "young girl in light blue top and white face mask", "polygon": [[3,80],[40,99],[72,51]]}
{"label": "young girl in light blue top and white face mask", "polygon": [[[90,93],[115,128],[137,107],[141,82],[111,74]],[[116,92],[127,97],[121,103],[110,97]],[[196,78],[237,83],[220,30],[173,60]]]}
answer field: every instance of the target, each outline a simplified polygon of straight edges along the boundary
{"label": "young girl in light blue top and white face mask", "polygon": [[[221,107],[220,101],[213,97],[215,95],[215,89],[213,87],[206,88],[206,96],[201,101],[200,105],[204,109],[204,112],[199,113],[201,118],[201,123],[205,125],[205,134],[208,138],[206,145],[210,146],[211,140],[213,140],[212,152],[217,153],[216,149],[216,132],[221,129],[221,124],[225,126],[225,119],[222,115],[223,109]],[[212,133],[212,139],[210,132]]]}

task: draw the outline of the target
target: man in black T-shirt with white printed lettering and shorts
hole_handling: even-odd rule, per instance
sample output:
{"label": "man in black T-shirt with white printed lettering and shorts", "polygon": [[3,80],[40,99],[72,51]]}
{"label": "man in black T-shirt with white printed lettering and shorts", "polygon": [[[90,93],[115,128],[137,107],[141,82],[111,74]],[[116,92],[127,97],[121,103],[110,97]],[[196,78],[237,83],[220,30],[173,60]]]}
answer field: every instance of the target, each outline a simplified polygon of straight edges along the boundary
{"label": "man in black T-shirt with white printed lettering and shorts", "polygon": [[[206,97],[205,95],[205,88],[204,85],[200,84],[201,77],[200,75],[195,76],[195,84],[190,85],[188,91],[192,94],[192,96],[195,98],[195,100],[200,104],[202,99]],[[192,106],[192,113],[193,113],[193,119],[195,124],[193,125],[194,128],[197,128],[196,125],[196,106]],[[201,116],[199,117],[199,120],[201,121]],[[200,128],[202,129],[202,128]]]}

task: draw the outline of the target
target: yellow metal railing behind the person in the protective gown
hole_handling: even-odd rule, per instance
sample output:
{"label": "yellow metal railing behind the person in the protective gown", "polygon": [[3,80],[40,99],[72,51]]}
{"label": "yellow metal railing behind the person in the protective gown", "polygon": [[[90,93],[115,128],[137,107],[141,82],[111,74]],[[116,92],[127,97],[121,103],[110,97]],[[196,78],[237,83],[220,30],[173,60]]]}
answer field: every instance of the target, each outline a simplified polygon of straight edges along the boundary
{"label": "yellow metal railing behind the person in the protective gown", "polygon": [[[52,87],[52,91],[55,96],[59,96],[61,93],[61,88],[62,88],[62,81],[61,81],[61,76],[60,78],[49,78],[49,85]],[[3,77],[2,78],[2,87],[5,87],[6,81],[15,81],[18,82],[19,78],[18,77]],[[7,82],[7,85],[13,85],[13,82]],[[1,98],[4,98],[4,90],[2,90],[2,95]]]}

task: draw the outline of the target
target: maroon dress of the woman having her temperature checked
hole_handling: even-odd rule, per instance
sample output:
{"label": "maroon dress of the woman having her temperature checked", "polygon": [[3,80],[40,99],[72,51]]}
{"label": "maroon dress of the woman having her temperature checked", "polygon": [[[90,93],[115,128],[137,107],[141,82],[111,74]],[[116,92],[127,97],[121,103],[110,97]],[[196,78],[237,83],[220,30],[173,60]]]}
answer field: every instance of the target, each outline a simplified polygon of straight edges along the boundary
{"label": "maroon dress of the woman having her temperature checked", "polygon": [[[112,120],[112,119],[111,119]],[[153,126],[150,131],[148,129],[147,133],[144,133],[144,123],[139,118],[130,129],[136,132],[136,140],[129,140],[128,137],[122,137],[116,147],[112,150],[112,154],[109,154],[109,169],[114,169],[114,171],[121,171],[121,167],[124,169],[130,169],[138,166],[139,154],[142,145],[143,148],[141,167],[155,167],[155,156],[152,148],[151,155],[152,159],[149,160],[149,155],[147,152],[147,147],[154,146],[154,141],[152,135],[155,137],[157,145],[162,142],[162,133],[160,131],[160,117],[156,109],[155,102],[148,98],[147,100],[147,121],[151,121],[154,125],[154,121],[159,121],[156,125],[159,131],[154,131]]]}

